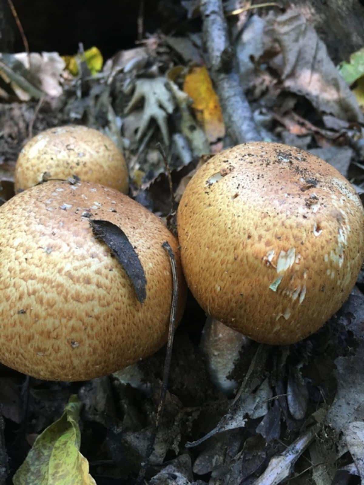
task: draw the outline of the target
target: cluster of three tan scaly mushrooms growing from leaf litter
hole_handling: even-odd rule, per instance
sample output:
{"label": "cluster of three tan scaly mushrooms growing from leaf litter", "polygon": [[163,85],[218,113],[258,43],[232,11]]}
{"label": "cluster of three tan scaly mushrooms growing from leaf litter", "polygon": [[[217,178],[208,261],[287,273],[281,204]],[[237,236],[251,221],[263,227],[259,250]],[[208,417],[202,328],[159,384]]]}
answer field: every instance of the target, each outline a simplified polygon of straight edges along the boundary
{"label": "cluster of three tan scaly mushrooms growing from leaf litter", "polygon": [[[84,138],[76,140],[76,133]],[[159,349],[173,290],[165,241],[178,268],[178,320],[186,296],[182,268],[208,315],[259,342],[304,339],[347,299],[364,258],[364,211],[330,164],[263,142],[215,155],[182,195],[179,250],[154,214],[119,192],[127,190],[125,161],[96,133],[51,129],[19,156],[17,190],[27,190],[0,207],[4,364],[43,379],[77,381]],[[66,134],[73,140],[68,145]],[[28,188],[46,172],[82,180]],[[112,246],[95,237],[95,220],[115,226],[132,247],[146,281],[143,302]],[[203,341],[211,334],[219,345],[219,328],[206,331]],[[245,337],[237,340],[236,355]],[[216,355],[219,360],[220,350]],[[220,367],[211,365],[216,379]]]}

